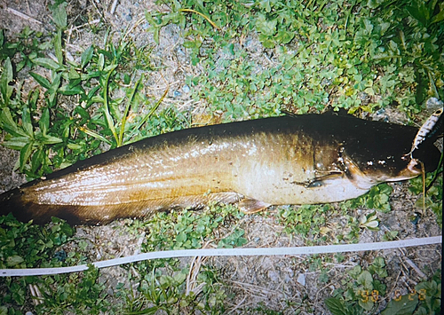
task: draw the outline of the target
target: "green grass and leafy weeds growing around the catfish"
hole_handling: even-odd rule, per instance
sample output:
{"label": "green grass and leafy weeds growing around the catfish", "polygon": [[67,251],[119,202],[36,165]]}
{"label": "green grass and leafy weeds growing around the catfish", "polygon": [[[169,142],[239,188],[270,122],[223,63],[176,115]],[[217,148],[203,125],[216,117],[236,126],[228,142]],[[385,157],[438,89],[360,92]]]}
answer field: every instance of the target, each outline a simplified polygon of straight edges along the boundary
{"label": "green grass and leafy weeds growing around the catfish", "polygon": [[[156,43],[170,24],[181,29],[183,49],[191,65],[200,69],[185,78],[192,98],[203,105],[200,116],[190,109],[164,105],[168,88],[159,95],[147,92],[149,78],[159,70],[150,55],[152,47],[140,47],[99,27],[92,32],[104,34],[103,43],[68,59],[65,3],[51,8],[53,34],[25,28],[10,40],[1,31],[0,129],[5,135],[2,145],[20,151],[16,169],[28,179],[42,177],[107,149],[200,124],[207,116],[210,121],[231,122],[276,116],[282,110],[304,114],[344,108],[350,114],[366,114],[392,107],[413,122],[427,115],[427,98],[444,98],[444,9],[436,0],[209,4],[166,1],[166,10],[146,12],[147,32]],[[49,52],[55,57],[50,58]],[[24,73],[38,84],[34,90],[21,79]],[[439,224],[441,186],[442,177],[438,177],[425,197]],[[411,181],[410,190],[422,192],[420,178]],[[291,237],[316,244],[327,239],[330,214],[340,213],[346,224],[335,241],[358,241],[363,231],[378,229],[379,212],[391,210],[390,193],[389,185],[378,185],[365,196],[341,203],[339,209],[283,207],[276,219]],[[362,207],[377,211],[360,218],[347,213]],[[234,207],[210,205],[199,213],[185,210],[128,221],[126,229],[134,234],[147,232],[144,251],[202,248],[208,241],[230,248],[247,242],[239,226],[241,218]],[[385,237],[392,240],[396,235],[397,231],[390,231]],[[67,249],[72,244],[76,250]],[[75,238],[75,228],[57,219],[39,227],[2,217],[0,248],[0,268],[91,262],[87,243]],[[321,282],[329,281],[329,273],[322,269],[326,259],[316,256],[307,263],[313,271],[321,270]],[[337,256],[337,262],[342,259]],[[93,268],[78,274],[2,279],[0,289],[5,294],[0,297],[0,314],[34,308],[39,313],[91,314],[226,311],[227,293],[217,270],[202,266],[198,285],[190,293],[186,290],[189,266],[177,260],[143,262],[131,268],[137,273],[128,271],[128,281],[137,285],[119,284],[115,288],[119,302],[113,304],[100,272]],[[334,315],[376,311],[375,296],[388,295],[385,269],[382,257],[375,257],[367,267],[353,268],[326,300],[329,311]],[[43,303],[33,306],[29,287],[40,288]],[[408,299],[411,293],[391,296],[382,313],[402,314],[404,302],[411,310],[438,313],[440,275],[418,283],[415,289],[413,300]],[[279,313],[264,305],[255,311]]]}

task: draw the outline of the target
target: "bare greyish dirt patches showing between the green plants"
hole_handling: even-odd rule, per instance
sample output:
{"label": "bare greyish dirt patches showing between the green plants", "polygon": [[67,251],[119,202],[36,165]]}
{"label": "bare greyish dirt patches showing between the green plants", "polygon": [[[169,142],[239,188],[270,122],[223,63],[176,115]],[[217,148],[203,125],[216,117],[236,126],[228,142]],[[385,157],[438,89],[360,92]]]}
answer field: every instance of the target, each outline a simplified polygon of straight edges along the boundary
{"label": "bare greyish dirt patches showing between the green plants", "polygon": [[[48,9],[49,1],[0,1],[0,28],[7,30],[7,35],[17,35],[25,26],[41,31],[52,32],[50,23],[51,12]],[[170,92],[165,98],[167,106],[187,108],[192,106],[199,110],[203,105],[194,101],[189,93],[184,92],[186,75],[198,74],[201,69],[192,67],[186,48],[182,46],[183,38],[177,26],[170,25],[163,28],[160,35],[160,44],[156,45],[153,35],[146,30],[144,18],[146,11],[166,10],[152,1],[116,1],[115,12],[111,13],[113,1],[71,1],[68,5],[67,52],[74,58],[84,51],[91,43],[103,42],[102,34],[92,34],[88,23],[97,23],[99,18],[104,19],[112,32],[131,36],[137,45],[151,45],[155,64],[162,66],[152,76],[150,88],[159,96],[170,85]],[[21,14],[20,14],[21,13]],[[251,50],[252,56],[258,63],[264,62],[263,48],[258,45]],[[180,91],[180,97],[174,91]],[[399,120],[399,117],[389,117]],[[0,146],[0,191],[6,191],[24,182],[25,178],[12,171],[18,159],[18,153]],[[379,231],[362,230],[360,242],[382,241],[388,230],[399,231],[398,239],[427,237],[440,235],[440,227],[436,224],[431,212],[421,218],[417,224],[412,224],[410,217],[416,209],[416,198],[408,193],[406,183],[392,184],[391,196],[392,211],[388,214],[379,214],[381,229]],[[248,243],[245,247],[291,247],[304,246],[304,240],[289,237],[283,232],[283,227],[274,217],[274,209],[266,214],[250,215],[242,218],[240,228],[245,230]],[[351,215],[359,217],[369,214],[371,209],[353,210]],[[340,227],[341,218],[331,217],[331,226]],[[121,232],[119,232],[121,231]],[[91,259],[100,260],[117,256],[130,256],[140,250],[143,235],[139,237],[125,234],[123,222],[115,222],[105,226],[79,227],[77,236],[91,239]],[[100,240],[100,241],[94,241]],[[329,242],[327,242],[329,243]],[[254,257],[215,257],[207,258],[202,264],[213,266],[220,270],[223,283],[226,283],[227,314],[254,313],[260,305],[267,309],[282,311],[285,314],[294,314],[297,310],[301,314],[329,314],[324,304],[333,290],[339,287],[340,281],[345,278],[345,272],[360,264],[367,267],[376,256],[385,258],[388,278],[387,292],[400,290],[408,293],[408,288],[430,277],[441,265],[441,247],[424,246],[420,248],[399,248],[383,251],[359,252],[345,254],[341,264],[325,263],[322,266],[328,270],[329,280],[320,280],[321,272],[310,268],[308,256],[254,256]],[[324,257],[324,256],[320,256]],[[183,263],[190,263],[191,259],[184,259]],[[418,272],[419,271],[419,272]],[[121,267],[107,268],[102,271],[101,280],[106,281],[109,295],[115,294],[118,282],[125,281],[127,271]],[[424,274],[424,273],[425,274]],[[302,306],[301,306],[302,305]],[[307,311],[312,310],[312,311]]]}

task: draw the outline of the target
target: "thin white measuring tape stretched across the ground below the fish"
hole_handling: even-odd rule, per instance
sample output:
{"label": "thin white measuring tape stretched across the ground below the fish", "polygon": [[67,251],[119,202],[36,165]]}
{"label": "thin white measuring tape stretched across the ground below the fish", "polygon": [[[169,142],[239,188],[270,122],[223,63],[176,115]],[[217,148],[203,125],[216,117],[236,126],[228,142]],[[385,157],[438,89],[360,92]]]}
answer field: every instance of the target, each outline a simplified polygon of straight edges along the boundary
{"label": "thin white measuring tape stretched across the ground below the fish", "polygon": [[[380,250],[391,248],[408,248],[412,246],[441,244],[442,235],[426,237],[422,239],[392,240],[377,243],[345,244],[307,246],[300,248],[211,248],[211,249],[180,249],[165,250],[139,255],[115,258],[93,263],[97,268],[112,267],[120,264],[135,263],[142,260],[158,258],[178,258],[194,256],[285,256],[285,255],[309,255],[327,253],[346,253],[365,250]],[[82,272],[87,270],[86,264],[73,267],[59,268],[29,268],[29,269],[0,269],[0,277],[12,276],[42,276],[47,274]]]}

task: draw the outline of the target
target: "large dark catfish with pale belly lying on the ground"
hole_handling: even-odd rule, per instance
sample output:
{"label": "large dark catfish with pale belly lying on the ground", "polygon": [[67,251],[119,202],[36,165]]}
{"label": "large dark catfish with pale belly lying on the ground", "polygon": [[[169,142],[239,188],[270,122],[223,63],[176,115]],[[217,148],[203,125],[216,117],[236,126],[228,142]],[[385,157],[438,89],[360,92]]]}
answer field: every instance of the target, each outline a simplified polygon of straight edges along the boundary
{"label": "large dark catfish with pale belly lying on the ground", "polygon": [[[373,185],[416,177],[405,154],[417,129],[351,115],[304,114],[230,122],[146,138],[0,195],[0,214],[37,224],[105,224],[154,211],[239,202],[270,205],[344,201]],[[411,159],[435,169],[428,139]],[[412,166],[413,165],[413,166]]]}

